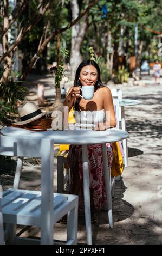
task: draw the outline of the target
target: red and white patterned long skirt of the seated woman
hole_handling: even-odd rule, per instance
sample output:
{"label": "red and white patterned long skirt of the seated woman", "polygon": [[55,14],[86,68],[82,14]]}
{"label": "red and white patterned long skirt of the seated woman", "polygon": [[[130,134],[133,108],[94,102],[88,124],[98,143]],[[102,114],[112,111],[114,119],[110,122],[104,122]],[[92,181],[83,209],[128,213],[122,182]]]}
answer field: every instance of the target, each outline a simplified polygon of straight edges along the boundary
{"label": "red and white patterned long skirt of the seated woman", "polygon": [[[88,163],[89,163],[89,185],[93,189],[93,200],[95,208],[100,210],[102,204],[106,204],[106,188],[103,172],[102,146],[101,144],[88,145]],[[113,155],[112,144],[107,143],[108,166],[111,168],[111,157]],[[80,180],[83,180],[82,171],[82,150],[81,145],[71,145],[67,157],[68,166],[71,174],[71,186],[73,186],[73,172],[79,172]],[[76,166],[78,168],[76,168]],[[74,168],[75,167],[75,168]],[[81,208],[82,198],[79,193],[79,207]]]}

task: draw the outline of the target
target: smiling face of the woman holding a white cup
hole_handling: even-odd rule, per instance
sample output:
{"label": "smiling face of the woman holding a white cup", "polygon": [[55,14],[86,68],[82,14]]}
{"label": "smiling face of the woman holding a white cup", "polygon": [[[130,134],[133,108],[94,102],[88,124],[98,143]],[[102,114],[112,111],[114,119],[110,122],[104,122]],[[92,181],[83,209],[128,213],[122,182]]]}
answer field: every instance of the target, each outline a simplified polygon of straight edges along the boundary
{"label": "smiling face of the woman holding a white cup", "polygon": [[82,86],[94,86],[98,80],[98,71],[92,65],[83,66],[79,78]]}

